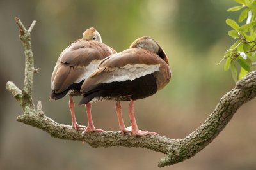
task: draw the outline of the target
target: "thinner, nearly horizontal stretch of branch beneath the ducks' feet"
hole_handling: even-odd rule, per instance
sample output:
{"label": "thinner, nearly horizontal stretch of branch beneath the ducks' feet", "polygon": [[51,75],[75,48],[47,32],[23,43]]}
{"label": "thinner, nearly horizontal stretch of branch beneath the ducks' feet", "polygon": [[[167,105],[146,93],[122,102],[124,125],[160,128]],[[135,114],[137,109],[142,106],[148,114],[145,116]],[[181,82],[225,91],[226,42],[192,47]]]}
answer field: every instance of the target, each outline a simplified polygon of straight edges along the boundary
{"label": "thinner, nearly horizontal stretch of branch beneath the ducks' feet", "polygon": [[93,132],[81,135],[82,131],[76,131],[70,125],[58,124],[44,113],[24,114],[17,117],[19,122],[37,127],[49,133],[54,138],[83,141],[93,148],[125,146],[148,148],[157,152],[168,153],[168,145],[173,139],[164,136],[141,136],[134,137],[131,134],[122,134],[121,132]]}

